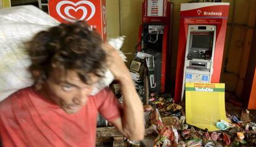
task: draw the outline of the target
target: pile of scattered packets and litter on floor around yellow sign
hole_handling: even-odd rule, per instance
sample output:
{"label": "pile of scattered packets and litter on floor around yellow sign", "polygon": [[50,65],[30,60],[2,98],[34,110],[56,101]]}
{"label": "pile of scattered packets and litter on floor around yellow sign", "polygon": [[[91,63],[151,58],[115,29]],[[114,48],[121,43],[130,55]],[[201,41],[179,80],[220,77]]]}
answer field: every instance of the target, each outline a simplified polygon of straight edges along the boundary
{"label": "pile of scattered packets and litter on floor around yellow sign", "polygon": [[218,126],[221,130],[208,132],[186,124],[184,107],[173,103],[168,95],[151,93],[150,105],[145,105],[144,110],[146,133],[158,134],[154,147],[256,146],[256,124],[250,122],[249,116],[241,120],[236,114],[226,113],[230,122]]}

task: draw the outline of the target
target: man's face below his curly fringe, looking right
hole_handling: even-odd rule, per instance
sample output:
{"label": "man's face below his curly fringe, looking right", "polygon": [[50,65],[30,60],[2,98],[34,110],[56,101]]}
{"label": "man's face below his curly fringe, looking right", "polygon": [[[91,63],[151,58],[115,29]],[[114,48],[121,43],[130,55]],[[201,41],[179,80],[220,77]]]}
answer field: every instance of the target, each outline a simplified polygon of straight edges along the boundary
{"label": "man's face below his curly fringe, looking right", "polygon": [[66,113],[77,113],[87,103],[88,96],[99,79],[95,74],[88,76],[90,84],[85,84],[74,70],[63,73],[54,69],[46,81],[48,97]]}

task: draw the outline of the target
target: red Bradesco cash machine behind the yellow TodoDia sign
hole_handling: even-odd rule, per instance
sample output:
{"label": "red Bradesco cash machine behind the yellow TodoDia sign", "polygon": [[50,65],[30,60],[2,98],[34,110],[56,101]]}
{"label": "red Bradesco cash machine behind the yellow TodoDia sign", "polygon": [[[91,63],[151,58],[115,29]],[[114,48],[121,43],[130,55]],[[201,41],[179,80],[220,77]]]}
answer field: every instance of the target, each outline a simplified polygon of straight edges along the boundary
{"label": "red Bradesco cash machine behind the yellow TodoDia sign", "polygon": [[184,98],[186,82],[220,82],[228,2],[181,4],[174,101]]}

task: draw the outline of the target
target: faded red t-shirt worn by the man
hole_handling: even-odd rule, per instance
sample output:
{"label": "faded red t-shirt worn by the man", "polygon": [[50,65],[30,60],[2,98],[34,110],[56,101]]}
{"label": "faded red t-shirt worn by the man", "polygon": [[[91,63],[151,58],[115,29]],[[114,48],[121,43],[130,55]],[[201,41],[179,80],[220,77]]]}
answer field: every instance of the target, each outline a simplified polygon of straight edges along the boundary
{"label": "faded red t-shirt worn by the man", "polygon": [[0,103],[3,146],[95,146],[96,118],[121,117],[121,106],[109,88],[88,98],[78,113],[67,114],[31,87]]}

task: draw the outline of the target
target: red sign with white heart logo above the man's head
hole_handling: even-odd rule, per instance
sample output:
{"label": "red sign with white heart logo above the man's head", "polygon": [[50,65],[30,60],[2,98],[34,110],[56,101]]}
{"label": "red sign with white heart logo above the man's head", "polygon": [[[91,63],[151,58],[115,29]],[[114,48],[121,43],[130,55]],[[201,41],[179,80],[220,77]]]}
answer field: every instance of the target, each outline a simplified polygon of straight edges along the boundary
{"label": "red sign with white heart logo above the man's head", "polygon": [[106,42],[106,0],[51,0],[49,15],[62,23],[85,20]]}

